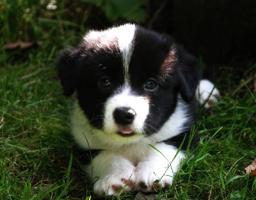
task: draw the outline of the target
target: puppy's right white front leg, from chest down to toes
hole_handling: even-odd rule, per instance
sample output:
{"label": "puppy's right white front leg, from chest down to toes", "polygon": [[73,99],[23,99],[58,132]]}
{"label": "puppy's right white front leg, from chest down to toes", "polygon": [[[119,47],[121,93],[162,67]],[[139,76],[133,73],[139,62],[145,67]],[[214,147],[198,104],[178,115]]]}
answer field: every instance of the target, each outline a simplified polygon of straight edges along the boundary
{"label": "puppy's right white front leg, from chest down to toes", "polygon": [[136,190],[150,192],[170,187],[173,175],[179,169],[180,160],[184,158],[184,153],[177,154],[174,146],[158,143],[154,148],[148,150],[148,156],[137,166]]}

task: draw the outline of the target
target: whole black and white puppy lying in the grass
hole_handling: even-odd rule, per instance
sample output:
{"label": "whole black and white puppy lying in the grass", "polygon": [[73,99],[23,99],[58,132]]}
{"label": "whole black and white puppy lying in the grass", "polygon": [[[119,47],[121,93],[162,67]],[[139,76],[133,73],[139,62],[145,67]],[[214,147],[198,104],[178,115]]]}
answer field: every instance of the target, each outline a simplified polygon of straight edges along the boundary
{"label": "whole black and white puppy lying in the grass", "polygon": [[189,141],[197,142],[196,88],[202,102],[218,95],[172,38],[134,24],[87,32],[61,54],[58,73],[65,95],[76,93],[72,134],[88,150],[96,194],[172,185]]}

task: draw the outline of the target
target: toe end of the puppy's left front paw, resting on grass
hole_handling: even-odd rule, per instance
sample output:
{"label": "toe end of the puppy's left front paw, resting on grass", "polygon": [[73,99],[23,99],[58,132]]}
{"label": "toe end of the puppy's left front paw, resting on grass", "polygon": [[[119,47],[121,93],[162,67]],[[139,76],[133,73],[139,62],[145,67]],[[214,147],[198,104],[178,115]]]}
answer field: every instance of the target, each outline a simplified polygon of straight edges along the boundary
{"label": "toe end of the puppy's left front paw, resting on grass", "polygon": [[94,184],[93,191],[97,195],[118,196],[134,189],[135,177],[131,175],[107,175],[99,178]]}

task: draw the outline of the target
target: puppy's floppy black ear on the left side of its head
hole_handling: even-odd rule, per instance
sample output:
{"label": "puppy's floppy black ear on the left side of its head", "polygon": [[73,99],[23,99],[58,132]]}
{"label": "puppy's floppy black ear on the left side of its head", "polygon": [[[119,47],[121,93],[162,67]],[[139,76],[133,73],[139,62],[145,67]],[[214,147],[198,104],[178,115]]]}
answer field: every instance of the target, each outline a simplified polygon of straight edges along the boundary
{"label": "puppy's floppy black ear on the left side of its head", "polygon": [[61,52],[57,63],[58,76],[65,96],[72,96],[76,90],[76,66],[79,56],[77,48],[69,48]]}

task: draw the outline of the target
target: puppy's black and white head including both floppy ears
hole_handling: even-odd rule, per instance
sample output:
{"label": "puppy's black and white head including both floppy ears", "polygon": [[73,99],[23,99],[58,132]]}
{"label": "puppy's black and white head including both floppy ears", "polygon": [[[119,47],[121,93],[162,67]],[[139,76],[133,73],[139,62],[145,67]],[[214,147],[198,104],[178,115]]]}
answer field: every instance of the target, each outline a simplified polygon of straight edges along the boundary
{"label": "puppy's black and white head including both floppy ears", "polygon": [[131,24],[88,32],[63,52],[58,72],[92,127],[120,138],[156,133],[178,94],[191,101],[198,83],[193,57],[167,36]]}

